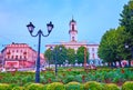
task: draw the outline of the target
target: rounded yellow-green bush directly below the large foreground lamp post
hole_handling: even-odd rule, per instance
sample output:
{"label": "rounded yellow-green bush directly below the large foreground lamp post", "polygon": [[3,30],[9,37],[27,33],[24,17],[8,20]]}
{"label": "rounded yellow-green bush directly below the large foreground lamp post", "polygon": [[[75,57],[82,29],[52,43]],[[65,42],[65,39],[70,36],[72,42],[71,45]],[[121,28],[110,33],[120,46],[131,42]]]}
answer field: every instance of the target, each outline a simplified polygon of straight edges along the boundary
{"label": "rounded yellow-green bush directly below the large foreground lamp post", "polygon": [[44,86],[41,83],[31,83],[25,87],[25,90],[43,90]]}

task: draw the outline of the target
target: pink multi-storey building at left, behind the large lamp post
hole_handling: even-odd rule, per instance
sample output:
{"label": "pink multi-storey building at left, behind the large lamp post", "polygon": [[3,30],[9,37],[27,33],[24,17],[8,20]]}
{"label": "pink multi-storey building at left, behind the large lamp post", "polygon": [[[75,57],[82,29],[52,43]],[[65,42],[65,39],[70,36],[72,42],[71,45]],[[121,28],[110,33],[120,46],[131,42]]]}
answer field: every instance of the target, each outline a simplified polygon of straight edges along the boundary
{"label": "pink multi-storey building at left, behind the large lamp post", "polygon": [[[37,61],[37,51],[27,43],[11,43],[1,51],[4,60],[4,68],[34,68]],[[40,56],[41,66],[44,63],[44,58]]]}

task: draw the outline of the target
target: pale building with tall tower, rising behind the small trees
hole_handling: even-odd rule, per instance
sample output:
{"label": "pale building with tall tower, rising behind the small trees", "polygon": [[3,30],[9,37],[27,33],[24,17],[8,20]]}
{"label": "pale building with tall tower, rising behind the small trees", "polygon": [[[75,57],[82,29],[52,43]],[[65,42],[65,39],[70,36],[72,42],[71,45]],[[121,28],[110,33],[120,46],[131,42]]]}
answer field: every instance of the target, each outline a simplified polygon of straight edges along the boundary
{"label": "pale building with tall tower, rising behind the small trees", "polygon": [[[60,42],[59,44],[64,46],[65,48],[71,48],[74,49],[75,52],[80,47],[85,47],[88,49],[88,52],[90,53],[89,56],[89,63],[94,63],[95,66],[101,64],[101,60],[98,56],[98,49],[99,44],[98,43],[88,43],[86,41],[78,41],[78,29],[76,29],[76,21],[71,20],[69,23],[70,30],[70,41],[69,42]],[[49,48],[54,48],[57,44],[47,44],[47,49]]]}

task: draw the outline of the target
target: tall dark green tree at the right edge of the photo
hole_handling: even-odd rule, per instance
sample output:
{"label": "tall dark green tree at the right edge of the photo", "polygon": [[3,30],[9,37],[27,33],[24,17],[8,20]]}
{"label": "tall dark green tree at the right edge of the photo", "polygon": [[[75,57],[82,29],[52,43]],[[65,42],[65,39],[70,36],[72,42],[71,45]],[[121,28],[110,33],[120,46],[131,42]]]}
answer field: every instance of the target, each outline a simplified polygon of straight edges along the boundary
{"label": "tall dark green tree at the right edge of the photo", "polygon": [[123,11],[120,14],[120,24],[125,27],[125,43],[129,46],[129,49],[125,50],[126,59],[130,62],[133,59],[133,0],[130,0],[127,4],[123,7]]}

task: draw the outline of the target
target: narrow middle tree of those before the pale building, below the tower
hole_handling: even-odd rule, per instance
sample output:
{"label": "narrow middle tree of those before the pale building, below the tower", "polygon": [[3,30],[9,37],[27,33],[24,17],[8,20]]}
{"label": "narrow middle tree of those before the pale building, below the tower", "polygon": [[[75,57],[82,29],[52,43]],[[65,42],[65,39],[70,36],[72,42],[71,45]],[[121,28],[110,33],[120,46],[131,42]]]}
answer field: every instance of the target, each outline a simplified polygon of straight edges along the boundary
{"label": "narrow middle tree of those before the pale building, below the tower", "polygon": [[69,48],[66,51],[66,59],[69,63],[74,64],[75,63],[75,51],[74,49]]}

